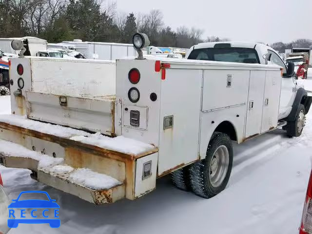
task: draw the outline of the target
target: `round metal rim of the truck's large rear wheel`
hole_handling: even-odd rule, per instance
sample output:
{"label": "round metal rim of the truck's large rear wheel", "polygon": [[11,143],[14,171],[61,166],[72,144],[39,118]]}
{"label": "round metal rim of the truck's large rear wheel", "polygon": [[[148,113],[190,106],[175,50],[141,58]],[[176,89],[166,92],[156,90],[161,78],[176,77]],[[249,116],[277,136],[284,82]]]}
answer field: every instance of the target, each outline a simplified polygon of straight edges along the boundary
{"label": "round metal rim of the truck's large rear wheel", "polygon": [[216,188],[222,184],[228,172],[229,158],[229,151],[225,145],[221,145],[215,150],[209,165],[209,178],[213,187]]}

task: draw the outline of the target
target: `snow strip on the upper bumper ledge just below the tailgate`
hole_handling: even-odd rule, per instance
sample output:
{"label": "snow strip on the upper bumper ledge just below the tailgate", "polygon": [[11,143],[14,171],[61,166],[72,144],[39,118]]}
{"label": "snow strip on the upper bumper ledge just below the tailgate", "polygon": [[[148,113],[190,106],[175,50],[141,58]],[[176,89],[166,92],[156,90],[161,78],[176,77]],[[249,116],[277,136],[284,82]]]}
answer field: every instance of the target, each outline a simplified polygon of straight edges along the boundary
{"label": "snow strip on the upper bumper ledge just below the tailgate", "polygon": [[16,115],[0,115],[0,122],[38,131],[44,134],[68,138],[124,154],[139,155],[155,148],[153,145],[127,137],[105,137],[100,133],[91,134],[82,130],[50,123],[42,123]]}

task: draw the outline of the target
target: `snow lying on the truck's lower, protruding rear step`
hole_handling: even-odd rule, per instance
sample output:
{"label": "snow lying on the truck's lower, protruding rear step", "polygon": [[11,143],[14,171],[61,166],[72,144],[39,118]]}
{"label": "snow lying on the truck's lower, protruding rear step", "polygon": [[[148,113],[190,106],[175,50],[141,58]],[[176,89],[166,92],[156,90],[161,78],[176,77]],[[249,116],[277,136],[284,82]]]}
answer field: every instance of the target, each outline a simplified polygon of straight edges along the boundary
{"label": "snow lying on the truck's lower, protruding rear step", "polygon": [[110,189],[122,184],[111,176],[94,172],[88,168],[73,168],[64,164],[63,158],[42,155],[6,140],[0,140],[0,154],[34,159],[38,161],[38,170],[94,190]]}

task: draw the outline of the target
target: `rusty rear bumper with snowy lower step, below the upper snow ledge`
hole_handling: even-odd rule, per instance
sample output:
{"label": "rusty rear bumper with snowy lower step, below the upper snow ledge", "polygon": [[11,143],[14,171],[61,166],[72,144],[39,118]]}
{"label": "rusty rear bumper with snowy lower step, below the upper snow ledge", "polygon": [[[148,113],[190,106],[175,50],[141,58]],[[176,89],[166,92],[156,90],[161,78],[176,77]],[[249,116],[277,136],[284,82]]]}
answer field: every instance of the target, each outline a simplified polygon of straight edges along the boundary
{"label": "rusty rear bumper with snowy lower step, below the upper snow ledge", "polygon": [[[63,128],[59,125],[48,125],[49,128]],[[149,184],[154,187],[147,187],[137,194],[136,165],[137,160],[144,158],[153,158],[156,161],[156,152],[157,148],[151,147],[137,155],[121,153],[0,122],[1,164],[30,169],[34,179],[97,205],[113,203],[122,198],[135,199],[153,190],[155,185],[150,181]],[[156,164],[154,165],[156,168]],[[152,176],[156,180],[156,169]]]}

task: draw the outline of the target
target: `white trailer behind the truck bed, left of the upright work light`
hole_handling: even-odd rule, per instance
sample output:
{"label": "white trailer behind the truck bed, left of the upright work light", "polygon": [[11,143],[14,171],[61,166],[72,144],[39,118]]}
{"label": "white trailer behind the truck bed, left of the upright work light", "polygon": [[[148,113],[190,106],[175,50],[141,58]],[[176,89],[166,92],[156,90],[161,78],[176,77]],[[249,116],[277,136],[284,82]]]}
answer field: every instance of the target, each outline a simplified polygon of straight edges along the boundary
{"label": "white trailer behind the truck bed, left of the upright work light", "polygon": [[88,41],[69,41],[61,44],[74,45],[76,51],[83,54],[87,59],[116,60],[137,55],[132,44],[107,43],[107,42],[88,42]]}

